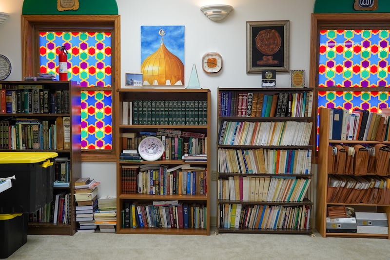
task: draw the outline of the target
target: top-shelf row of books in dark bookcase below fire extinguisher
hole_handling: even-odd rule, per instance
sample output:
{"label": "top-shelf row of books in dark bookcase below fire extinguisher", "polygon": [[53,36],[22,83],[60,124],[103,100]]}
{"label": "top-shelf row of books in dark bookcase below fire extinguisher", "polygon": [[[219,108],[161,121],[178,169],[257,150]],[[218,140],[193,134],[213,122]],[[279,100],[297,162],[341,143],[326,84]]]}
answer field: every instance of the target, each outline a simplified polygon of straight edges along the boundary
{"label": "top-shelf row of books in dark bookcase below fire extinguisher", "polygon": [[1,114],[68,114],[69,90],[42,89],[42,85],[19,85],[0,89]]}

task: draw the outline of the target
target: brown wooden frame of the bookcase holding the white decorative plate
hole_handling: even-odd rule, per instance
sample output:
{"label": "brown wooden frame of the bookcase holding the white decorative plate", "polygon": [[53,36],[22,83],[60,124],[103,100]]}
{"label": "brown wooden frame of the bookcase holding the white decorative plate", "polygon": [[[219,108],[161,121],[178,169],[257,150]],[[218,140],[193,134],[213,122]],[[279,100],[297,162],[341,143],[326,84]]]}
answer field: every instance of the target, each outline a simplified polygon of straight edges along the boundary
{"label": "brown wooden frame of the bookcase holding the white decorative plate", "polygon": [[[123,150],[122,134],[123,133],[138,133],[141,131],[156,132],[158,128],[176,129],[187,132],[195,132],[204,134],[207,140],[207,157],[210,157],[210,117],[211,117],[211,94],[209,89],[152,89],[152,88],[134,88],[134,89],[119,89],[119,103],[120,111],[117,113],[117,121],[119,127],[116,131],[117,135],[117,154],[120,154]],[[181,101],[203,101],[207,106],[203,109],[207,109],[207,123],[204,124],[191,124],[191,125],[178,125],[178,124],[131,124],[123,122],[123,103],[137,100],[154,100],[154,101],[167,101],[167,100],[181,100]],[[177,105],[176,108],[187,108],[187,105]],[[148,107],[147,110],[152,109]],[[163,112],[162,108],[160,107]],[[190,109],[190,107],[188,107]],[[145,110],[146,111],[146,110]],[[134,110],[133,110],[134,112]],[[132,112],[129,112],[132,115]],[[133,118],[132,118],[133,119]],[[136,147],[137,149],[137,147]],[[206,195],[150,195],[150,194],[127,194],[122,191],[122,167],[127,165],[142,165],[142,164],[162,164],[169,167],[189,163],[194,167],[205,167],[207,170]],[[210,160],[207,161],[195,161],[185,162],[184,160],[155,160],[155,161],[123,161],[117,160],[117,234],[174,234],[174,235],[209,235],[210,234]],[[137,203],[137,204],[149,204],[153,201],[166,201],[166,200],[178,200],[179,203],[199,204],[207,208],[206,226],[205,228],[162,228],[162,227],[137,227],[137,228],[124,228],[122,220],[122,210],[124,210],[124,203]]]}

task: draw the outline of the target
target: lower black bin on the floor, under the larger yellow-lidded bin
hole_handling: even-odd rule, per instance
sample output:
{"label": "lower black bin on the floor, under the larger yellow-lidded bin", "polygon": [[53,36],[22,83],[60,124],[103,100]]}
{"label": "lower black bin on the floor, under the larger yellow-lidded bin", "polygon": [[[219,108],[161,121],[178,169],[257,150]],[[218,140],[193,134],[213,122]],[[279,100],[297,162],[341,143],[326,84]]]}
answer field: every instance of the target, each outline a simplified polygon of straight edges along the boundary
{"label": "lower black bin on the floor, under the larger yellow-lidded bin", "polygon": [[0,258],[7,258],[27,242],[28,214],[0,214]]}

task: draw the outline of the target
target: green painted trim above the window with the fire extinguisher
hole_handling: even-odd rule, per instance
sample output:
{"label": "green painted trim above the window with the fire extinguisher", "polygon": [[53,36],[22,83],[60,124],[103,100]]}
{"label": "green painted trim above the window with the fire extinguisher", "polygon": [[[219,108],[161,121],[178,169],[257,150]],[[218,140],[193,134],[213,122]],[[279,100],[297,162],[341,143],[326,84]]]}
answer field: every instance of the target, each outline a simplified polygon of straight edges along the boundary
{"label": "green painted trim above the window with the fire extinguisher", "polygon": [[79,0],[78,10],[57,10],[57,0],[24,0],[23,15],[117,15],[116,0]]}

